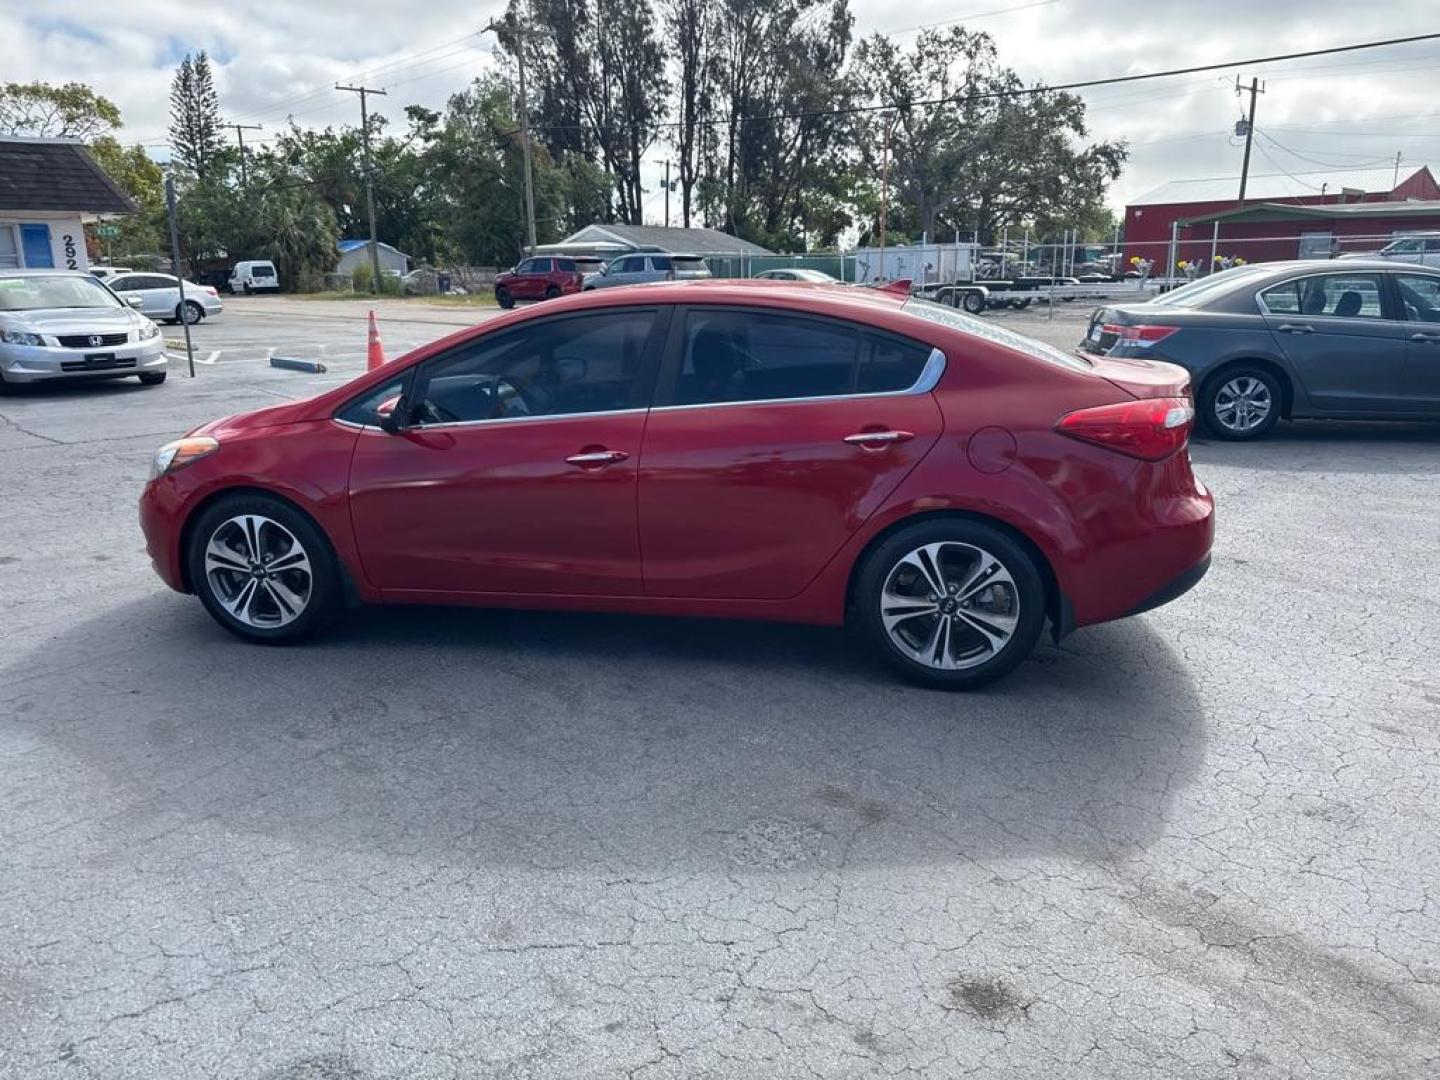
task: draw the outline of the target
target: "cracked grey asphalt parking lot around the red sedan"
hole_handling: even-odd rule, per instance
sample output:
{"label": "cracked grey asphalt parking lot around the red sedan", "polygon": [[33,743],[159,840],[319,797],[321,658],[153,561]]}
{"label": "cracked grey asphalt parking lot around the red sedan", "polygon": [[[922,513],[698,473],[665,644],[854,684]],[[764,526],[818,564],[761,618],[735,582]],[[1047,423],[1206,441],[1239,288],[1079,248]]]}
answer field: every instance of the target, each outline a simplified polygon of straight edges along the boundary
{"label": "cracked grey asphalt parking lot around the red sedan", "polygon": [[196,341],[0,400],[0,1076],[1440,1067],[1440,425],[1198,442],[1210,576],[949,696],[798,626],[243,645],[150,570],[150,455],[360,370],[363,305]]}

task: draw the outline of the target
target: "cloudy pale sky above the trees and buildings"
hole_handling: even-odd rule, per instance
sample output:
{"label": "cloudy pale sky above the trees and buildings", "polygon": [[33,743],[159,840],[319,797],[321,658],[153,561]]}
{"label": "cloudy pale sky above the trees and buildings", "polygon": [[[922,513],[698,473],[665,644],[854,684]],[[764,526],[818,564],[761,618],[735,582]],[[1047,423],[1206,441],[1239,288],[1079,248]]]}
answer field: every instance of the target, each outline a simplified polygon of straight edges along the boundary
{"label": "cloudy pale sky above the trees and buildings", "polygon": [[[503,0],[0,0],[6,81],[78,79],[115,101],[121,132],[164,158],[168,84],[206,49],[226,120],[302,125],[357,120],[337,81],[383,86],[382,109],[439,105],[495,60],[478,30]],[[855,33],[912,40],[922,26],[991,32],[1004,62],[1048,84],[1440,32],[1437,0],[851,0]],[[1238,174],[1234,76],[1259,75],[1251,171],[1308,174],[1394,161],[1440,163],[1440,40],[1086,91],[1092,134],[1125,138],[1122,206],[1171,179]],[[246,140],[249,141],[249,138]],[[664,158],[657,145],[651,157]],[[658,171],[657,171],[658,176]],[[647,216],[662,215],[658,183]]]}

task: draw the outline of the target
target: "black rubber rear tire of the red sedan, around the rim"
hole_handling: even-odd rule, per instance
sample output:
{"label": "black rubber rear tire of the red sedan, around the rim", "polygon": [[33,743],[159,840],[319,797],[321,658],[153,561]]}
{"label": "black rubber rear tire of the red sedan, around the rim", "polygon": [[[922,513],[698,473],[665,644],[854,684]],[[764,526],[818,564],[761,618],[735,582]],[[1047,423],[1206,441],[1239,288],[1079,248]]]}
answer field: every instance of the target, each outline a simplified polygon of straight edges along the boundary
{"label": "black rubber rear tire of the red sedan, around the rim", "polygon": [[[884,624],[881,593],[893,575],[894,590],[912,595],[912,586],[904,580],[910,575],[922,590],[916,599],[917,606],[927,606],[926,579],[914,573],[912,567],[916,564],[906,559],[927,544],[945,544],[949,549],[942,550],[943,566],[935,567],[932,562],[932,567],[937,569],[939,576],[952,586],[948,595],[939,598],[942,605],[949,600],[950,609],[950,626],[946,629],[943,645],[946,662],[965,667],[942,670],[916,660],[901,649]],[[991,566],[991,560],[999,564],[1002,575],[1008,575],[1009,580],[1005,582],[1002,575],[991,572],[986,579],[992,582],[991,585],[975,586],[973,575],[982,566]],[[959,583],[950,580],[952,576],[971,585],[968,595],[979,598],[971,600],[973,606],[960,603],[960,598],[966,593],[959,592]],[[1030,655],[1045,625],[1045,588],[1031,554],[999,528],[966,518],[920,521],[886,539],[860,567],[855,603],[858,624],[880,655],[910,681],[939,690],[971,690],[1005,675]],[[969,613],[963,613],[962,606],[966,606]],[[1011,613],[1002,615],[1004,608],[1009,608]],[[897,608],[891,606],[887,611],[893,615]],[[939,612],[935,616],[916,613],[896,625],[904,626],[904,634],[912,634],[922,642],[912,651],[924,652],[929,642],[937,641],[930,635],[937,634],[935,621],[939,618]],[[975,625],[976,619],[984,622],[988,634]],[[1008,629],[1007,622],[1009,622]],[[992,644],[995,631],[1001,631],[999,636],[1004,638],[998,647]]]}

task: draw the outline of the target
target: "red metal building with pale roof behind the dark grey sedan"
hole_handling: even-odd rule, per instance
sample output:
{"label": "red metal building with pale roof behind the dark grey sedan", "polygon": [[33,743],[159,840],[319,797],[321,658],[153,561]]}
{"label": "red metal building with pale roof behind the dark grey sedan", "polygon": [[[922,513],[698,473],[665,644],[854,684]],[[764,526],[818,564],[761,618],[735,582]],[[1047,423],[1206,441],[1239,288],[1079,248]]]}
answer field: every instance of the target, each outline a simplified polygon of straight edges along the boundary
{"label": "red metal building with pale roof behind the dark grey sedan", "polygon": [[[1211,252],[1246,262],[1375,251],[1397,233],[1440,229],[1440,184],[1427,166],[1174,180],[1125,209],[1125,258],[1164,274],[1175,261],[1208,268]],[[1364,209],[1361,209],[1364,207]],[[1218,229],[1218,232],[1217,232]]]}

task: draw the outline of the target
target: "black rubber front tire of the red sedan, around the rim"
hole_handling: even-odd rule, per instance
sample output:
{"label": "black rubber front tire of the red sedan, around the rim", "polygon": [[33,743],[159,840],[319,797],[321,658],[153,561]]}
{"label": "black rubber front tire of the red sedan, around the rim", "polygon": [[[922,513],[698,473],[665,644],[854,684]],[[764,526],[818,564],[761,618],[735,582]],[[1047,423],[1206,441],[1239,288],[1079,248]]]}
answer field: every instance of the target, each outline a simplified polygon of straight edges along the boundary
{"label": "black rubber front tire of the red sedan, around the rim", "polygon": [[[217,575],[217,577],[206,573],[206,547],[210,540],[217,536],[217,530],[233,533],[238,526],[229,523],[233,518],[243,518],[246,516],[268,518],[271,523],[281,526],[282,531],[288,531],[300,543],[305,557],[310,560],[311,585],[307,602],[300,609],[298,616],[292,616],[291,621],[281,625],[255,625],[255,622],[242,621],[226,608],[228,598],[217,593],[217,588],[229,586],[235,593],[229,599],[239,599],[240,590],[245,588],[243,583],[252,576],[251,573],[225,572]],[[262,549],[272,546],[276,539],[275,530],[268,530],[262,526],[259,531],[262,534],[259,546]],[[222,544],[226,533],[219,533]],[[279,539],[282,540],[282,537]],[[229,547],[230,550],[236,550],[233,544],[229,544]],[[272,556],[284,560],[292,550],[292,547],[284,547],[279,552],[272,552]],[[242,559],[243,554],[236,562],[239,563]],[[272,495],[236,494],[220,498],[207,507],[190,528],[186,562],[190,570],[190,585],[196,595],[199,595],[206,611],[225,629],[245,641],[264,645],[282,645],[301,641],[328,626],[344,609],[344,586],[341,583],[340,564],[336,560],[330,540],[307,514]],[[287,575],[289,576],[287,577]],[[297,592],[298,582],[294,572],[278,572],[274,577],[282,580],[291,595]],[[259,590],[259,586],[256,586],[256,590]],[[236,606],[246,608],[246,605]],[[281,612],[281,618],[284,618],[281,602],[269,600],[268,598],[261,598],[258,605],[251,605],[248,609],[253,615]]]}

